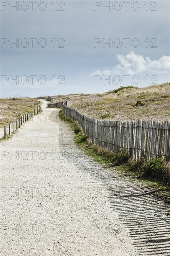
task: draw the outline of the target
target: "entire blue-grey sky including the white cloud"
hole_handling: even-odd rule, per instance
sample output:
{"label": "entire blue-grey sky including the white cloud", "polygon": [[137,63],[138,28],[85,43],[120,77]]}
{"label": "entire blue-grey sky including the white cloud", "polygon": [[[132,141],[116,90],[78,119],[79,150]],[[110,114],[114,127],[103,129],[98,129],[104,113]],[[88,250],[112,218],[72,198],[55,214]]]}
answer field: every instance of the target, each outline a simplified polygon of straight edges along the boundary
{"label": "entire blue-grey sky including the white cloud", "polygon": [[170,82],[169,0],[0,4],[2,98]]}

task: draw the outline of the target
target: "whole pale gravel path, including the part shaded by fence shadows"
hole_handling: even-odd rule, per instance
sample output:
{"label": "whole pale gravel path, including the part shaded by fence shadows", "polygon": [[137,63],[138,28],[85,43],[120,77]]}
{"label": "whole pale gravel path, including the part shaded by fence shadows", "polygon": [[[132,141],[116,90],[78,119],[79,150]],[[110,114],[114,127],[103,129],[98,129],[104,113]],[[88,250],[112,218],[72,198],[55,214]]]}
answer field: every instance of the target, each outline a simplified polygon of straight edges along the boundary
{"label": "whole pale gravel path, including the part shaded by fence shadows", "polygon": [[0,255],[170,255],[167,205],[86,156],[45,107],[1,143]]}

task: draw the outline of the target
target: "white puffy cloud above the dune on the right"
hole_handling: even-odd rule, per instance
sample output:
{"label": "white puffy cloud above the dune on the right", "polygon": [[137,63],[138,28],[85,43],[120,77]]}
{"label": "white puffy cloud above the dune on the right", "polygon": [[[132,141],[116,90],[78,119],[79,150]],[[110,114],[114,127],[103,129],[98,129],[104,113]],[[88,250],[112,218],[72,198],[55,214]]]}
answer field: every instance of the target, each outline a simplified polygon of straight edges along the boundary
{"label": "white puffy cloud above the dune on the right", "polygon": [[137,55],[131,51],[127,55],[116,54],[118,64],[111,69],[96,70],[92,75],[137,75],[144,73],[169,73],[170,56],[162,55],[158,60],[150,60],[150,57]]}

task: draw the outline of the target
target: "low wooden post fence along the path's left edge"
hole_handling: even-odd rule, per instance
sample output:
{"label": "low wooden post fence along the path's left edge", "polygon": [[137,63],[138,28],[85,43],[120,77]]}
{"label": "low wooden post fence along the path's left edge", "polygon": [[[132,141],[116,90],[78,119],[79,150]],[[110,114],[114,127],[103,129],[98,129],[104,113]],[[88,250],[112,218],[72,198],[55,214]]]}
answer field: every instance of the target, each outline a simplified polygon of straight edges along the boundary
{"label": "low wooden post fence along the path's left edge", "polygon": [[31,110],[29,113],[22,115],[20,118],[18,118],[15,122],[8,124],[7,126],[4,125],[4,138],[6,139],[8,136],[10,136],[12,133],[14,133],[16,130],[21,128],[21,126],[28,121],[30,118],[32,118],[34,115],[39,114],[42,111],[42,106],[39,105],[33,110]]}

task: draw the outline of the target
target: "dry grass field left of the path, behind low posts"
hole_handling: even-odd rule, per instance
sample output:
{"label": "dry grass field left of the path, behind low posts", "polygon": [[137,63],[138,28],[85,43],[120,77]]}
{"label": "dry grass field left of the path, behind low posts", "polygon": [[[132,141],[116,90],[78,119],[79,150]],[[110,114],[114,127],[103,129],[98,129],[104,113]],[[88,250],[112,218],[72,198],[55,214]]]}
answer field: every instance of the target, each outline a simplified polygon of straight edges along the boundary
{"label": "dry grass field left of the path, behind low posts", "polygon": [[35,106],[40,104],[40,101],[33,98],[9,98],[0,99],[0,128],[4,125],[16,121],[22,114],[31,111],[31,103],[34,102]]}

